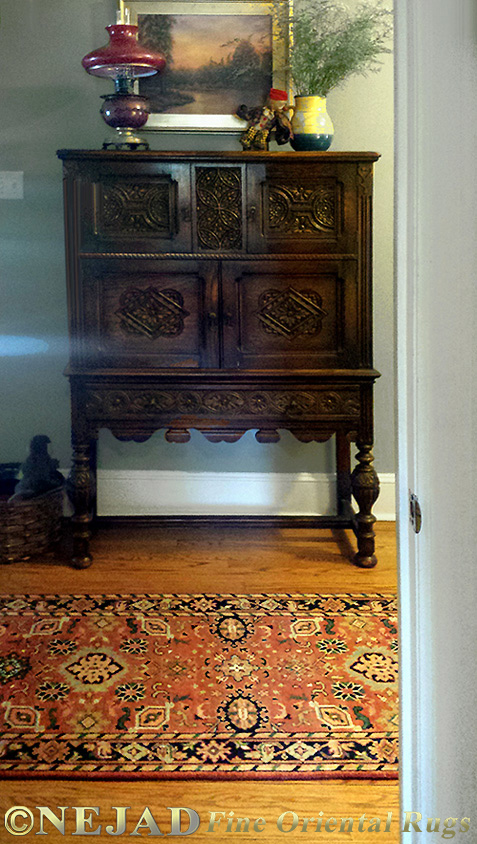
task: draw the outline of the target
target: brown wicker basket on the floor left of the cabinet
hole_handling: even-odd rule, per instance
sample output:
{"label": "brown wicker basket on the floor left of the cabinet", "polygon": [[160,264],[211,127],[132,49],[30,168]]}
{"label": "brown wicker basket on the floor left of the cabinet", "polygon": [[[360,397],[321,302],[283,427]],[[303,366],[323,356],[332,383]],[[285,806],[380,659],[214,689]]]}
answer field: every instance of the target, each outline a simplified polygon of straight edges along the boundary
{"label": "brown wicker basket on the floor left of the cabinet", "polygon": [[0,563],[27,560],[60,538],[63,487],[30,499],[0,495]]}

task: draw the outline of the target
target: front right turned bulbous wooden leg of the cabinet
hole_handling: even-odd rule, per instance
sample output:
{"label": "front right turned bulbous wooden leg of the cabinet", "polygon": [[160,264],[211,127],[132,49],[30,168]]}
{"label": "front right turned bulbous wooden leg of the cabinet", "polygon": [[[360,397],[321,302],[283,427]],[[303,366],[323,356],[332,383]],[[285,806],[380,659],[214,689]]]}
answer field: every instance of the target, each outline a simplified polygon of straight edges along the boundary
{"label": "front right turned bulbous wooden leg of the cabinet", "polygon": [[371,444],[358,442],[359,449],[356,459],[358,465],[351,474],[351,488],[359,507],[356,515],[356,537],[358,540],[358,553],[355,554],[354,563],[361,568],[373,568],[377,559],[374,554],[373,525],[376,516],[373,516],[372,508],[379,495],[379,480],[373,467],[373,451]]}

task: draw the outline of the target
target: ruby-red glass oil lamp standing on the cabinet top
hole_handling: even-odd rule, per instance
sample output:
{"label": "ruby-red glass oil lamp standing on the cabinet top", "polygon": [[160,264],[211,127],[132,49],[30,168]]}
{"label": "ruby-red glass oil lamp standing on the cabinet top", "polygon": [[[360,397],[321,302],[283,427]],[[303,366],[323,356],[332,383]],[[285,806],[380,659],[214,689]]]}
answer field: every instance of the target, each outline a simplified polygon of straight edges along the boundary
{"label": "ruby-red glass oil lamp standing on the cabinet top", "polygon": [[160,72],[166,60],[161,53],[139,44],[137,26],[117,23],[106,30],[109,44],[88,53],[82,61],[88,73],[114,81],[114,94],[103,95],[101,115],[115,131],[103,147],[147,149],[148,144],[135,132],[147,122],[149,104],[146,97],[134,92],[134,80]]}

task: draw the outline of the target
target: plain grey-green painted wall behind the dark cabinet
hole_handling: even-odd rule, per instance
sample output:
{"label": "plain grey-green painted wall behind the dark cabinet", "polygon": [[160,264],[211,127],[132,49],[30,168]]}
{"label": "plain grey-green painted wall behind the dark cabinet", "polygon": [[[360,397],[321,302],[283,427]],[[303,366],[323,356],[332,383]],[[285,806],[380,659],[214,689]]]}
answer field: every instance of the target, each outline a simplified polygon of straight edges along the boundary
{"label": "plain grey-green painted wall behind the dark cabinet", "polygon": [[[101,93],[111,83],[88,76],[85,53],[107,40],[114,0],[0,0],[0,171],[24,172],[24,199],[0,199],[0,462],[22,460],[31,437],[46,433],[51,453],[70,464],[62,178],[59,148],[100,148]],[[328,110],[334,150],[376,150],[375,366],[376,468],[394,471],[393,372],[393,74],[385,57],[377,74],[333,91]],[[149,133],[152,149],[231,149],[236,136]],[[42,350],[8,355],[6,336],[43,341]],[[3,342],[2,342],[3,338]],[[24,352],[27,341],[21,339]],[[2,352],[3,349],[3,352]],[[284,433],[259,445],[248,432],[233,445],[197,432],[169,445],[158,432],[147,443],[119,443],[104,431],[102,468],[183,471],[331,471],[331,444],[303,445]]]}

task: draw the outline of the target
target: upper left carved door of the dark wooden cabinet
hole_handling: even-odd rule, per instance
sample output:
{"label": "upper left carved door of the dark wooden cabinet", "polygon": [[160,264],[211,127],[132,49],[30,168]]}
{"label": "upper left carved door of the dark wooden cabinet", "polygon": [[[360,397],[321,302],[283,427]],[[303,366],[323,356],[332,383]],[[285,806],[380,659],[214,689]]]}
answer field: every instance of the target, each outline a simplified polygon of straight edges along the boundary
{"label": "upper left carved door of the dark wooden cabinet", "polygon": [[84,251],[191,250],[188,164],[94,169],[80,183],[80,242]]}

